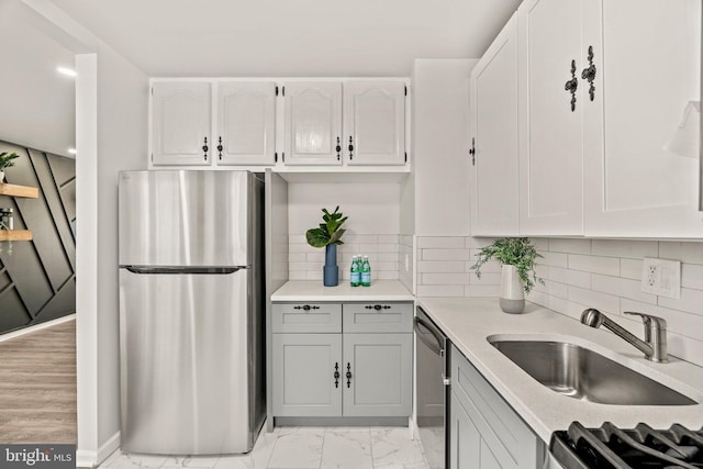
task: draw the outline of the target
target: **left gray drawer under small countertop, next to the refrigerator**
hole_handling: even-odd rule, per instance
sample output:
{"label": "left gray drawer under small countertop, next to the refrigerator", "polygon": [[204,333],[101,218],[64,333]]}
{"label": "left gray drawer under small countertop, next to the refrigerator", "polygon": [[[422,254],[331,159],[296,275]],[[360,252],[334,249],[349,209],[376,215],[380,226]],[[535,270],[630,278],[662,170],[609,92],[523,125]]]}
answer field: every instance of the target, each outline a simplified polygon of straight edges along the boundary
{"label": "left gray drawer under small countertop, next to the refrigerator", "polygon": [[274,303],[274,333],[342,332],[339,303]]}

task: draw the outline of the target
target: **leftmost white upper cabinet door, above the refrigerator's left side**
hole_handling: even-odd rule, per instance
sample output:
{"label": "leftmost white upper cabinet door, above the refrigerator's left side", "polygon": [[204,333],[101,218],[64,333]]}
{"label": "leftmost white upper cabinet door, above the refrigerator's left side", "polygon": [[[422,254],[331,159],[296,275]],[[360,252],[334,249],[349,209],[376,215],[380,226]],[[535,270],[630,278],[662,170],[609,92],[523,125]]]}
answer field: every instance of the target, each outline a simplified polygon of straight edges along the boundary
{"label": "leftmost white upper cabinet door, above the refrigerator's left side", "polygon": [[210,165],[212,92],[209,82],[155,82],[150,149],[154,165]]}

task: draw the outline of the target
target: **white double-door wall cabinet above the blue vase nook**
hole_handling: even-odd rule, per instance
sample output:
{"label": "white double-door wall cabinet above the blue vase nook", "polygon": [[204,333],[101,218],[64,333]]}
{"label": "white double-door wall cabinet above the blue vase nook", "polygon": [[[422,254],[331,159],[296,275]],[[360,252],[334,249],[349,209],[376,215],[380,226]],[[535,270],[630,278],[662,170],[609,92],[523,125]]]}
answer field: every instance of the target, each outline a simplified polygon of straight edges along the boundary
{"label": "white double-door wall cabinet above the blue vase nook", "polygon": [[404,82],[289,81],[283,100],[286,165],[405,164]]}

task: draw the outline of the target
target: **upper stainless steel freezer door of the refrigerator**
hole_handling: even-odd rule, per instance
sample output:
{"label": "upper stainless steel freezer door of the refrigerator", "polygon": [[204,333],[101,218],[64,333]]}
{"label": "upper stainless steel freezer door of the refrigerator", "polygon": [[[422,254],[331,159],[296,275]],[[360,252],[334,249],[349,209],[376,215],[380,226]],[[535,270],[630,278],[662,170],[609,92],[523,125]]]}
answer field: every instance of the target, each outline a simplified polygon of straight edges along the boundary
{"label": "upper stainless steel freezer door of the refrigerator", "polygon": [[253,264],[250,172],[122,171],[119,179],[121,266]]}

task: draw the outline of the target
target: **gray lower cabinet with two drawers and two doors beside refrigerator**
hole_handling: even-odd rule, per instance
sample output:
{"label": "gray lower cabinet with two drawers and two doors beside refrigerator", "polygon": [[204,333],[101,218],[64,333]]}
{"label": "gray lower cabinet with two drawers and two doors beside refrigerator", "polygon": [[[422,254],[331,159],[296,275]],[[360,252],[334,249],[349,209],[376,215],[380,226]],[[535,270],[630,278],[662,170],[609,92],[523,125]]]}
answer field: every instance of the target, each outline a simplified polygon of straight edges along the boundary
{"label": "gray lower cabinet with two drawers and two doors beside refrigerator", "polygon": [[375,306],[274,304],[274,416],[411,415],[412,303]]}

